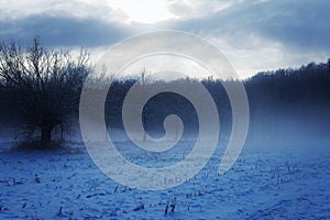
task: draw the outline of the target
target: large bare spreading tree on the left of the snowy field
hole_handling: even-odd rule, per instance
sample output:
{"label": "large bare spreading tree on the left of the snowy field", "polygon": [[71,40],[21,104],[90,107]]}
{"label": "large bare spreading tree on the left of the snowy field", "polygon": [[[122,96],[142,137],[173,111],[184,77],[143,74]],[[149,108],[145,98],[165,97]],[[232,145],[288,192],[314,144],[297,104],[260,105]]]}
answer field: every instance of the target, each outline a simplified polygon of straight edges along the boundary
{"label": "large bare spreading tree on the left of the snowy field", "polygon": [[55,127],[63,128],[78,111],[80,89],[89,73],[89,57],[47,51],[36,36],[23,50],[18,43],[0,43],[0,86],[11,113],[41,131],[41,146],[48,147]]}

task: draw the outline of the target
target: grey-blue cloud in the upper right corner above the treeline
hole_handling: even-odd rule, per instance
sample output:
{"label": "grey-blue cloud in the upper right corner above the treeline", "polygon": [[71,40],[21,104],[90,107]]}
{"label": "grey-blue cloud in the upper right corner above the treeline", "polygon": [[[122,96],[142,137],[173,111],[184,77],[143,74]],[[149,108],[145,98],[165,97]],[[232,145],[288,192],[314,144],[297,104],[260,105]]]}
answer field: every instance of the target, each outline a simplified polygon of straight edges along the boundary
{"label": "grey-blue cloud in the upper right corner above the treeline", "polygon": [[[248,15],[243,19],[253,16],[252,11],[245,11]],[[329,1],[267,1],[256,4],[255,11],[262,11],[260,15],[263,20],[254,18],[255,22],[248,25],[262,36],[297,50],[316,48],[329,52]]]}

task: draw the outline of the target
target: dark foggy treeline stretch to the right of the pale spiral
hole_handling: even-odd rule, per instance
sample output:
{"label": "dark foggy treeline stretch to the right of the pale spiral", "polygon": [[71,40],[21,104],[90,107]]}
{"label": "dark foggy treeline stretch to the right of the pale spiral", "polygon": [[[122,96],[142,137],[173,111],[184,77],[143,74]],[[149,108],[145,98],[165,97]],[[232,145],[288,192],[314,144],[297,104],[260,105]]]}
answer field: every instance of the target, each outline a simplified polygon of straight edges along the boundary
{"label": "dark foggy treeline stretch to the right of the pale spiral", "polygon": [[330,134],[330,59],[260,73],[245,82],[254,139],[322,141]]}

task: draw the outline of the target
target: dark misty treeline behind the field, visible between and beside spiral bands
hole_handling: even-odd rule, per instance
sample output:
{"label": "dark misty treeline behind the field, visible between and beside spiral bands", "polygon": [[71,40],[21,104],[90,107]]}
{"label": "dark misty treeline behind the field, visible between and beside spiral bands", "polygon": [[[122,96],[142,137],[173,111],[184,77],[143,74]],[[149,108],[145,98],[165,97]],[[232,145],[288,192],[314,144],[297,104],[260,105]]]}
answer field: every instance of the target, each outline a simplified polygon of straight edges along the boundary
{"label": "dark misty treeline behind the field, visible between and beside spiral bands", "polygon": [[[156,81],[176,84],[197,79]],[[134,79],[118,80],[109,90],[106,105],[107,121],[122,128],[121,107]],[[202,85],[212,96],[219,111],[221,134],[231,131],[231,106],[221,80],[202,79]],[[249,138],[253,140],[312,141],[330,135],[330,59],[327,63],[310,63],[296,69],[262,72],[243,81],[250,105]],[[198,95],[196,95],[198,96]],[[191,103],[179,95],[163,92],[153,97],[143,111],[143,123],[148,130],[163,129],[166,116],[178,114],[186,132],[198,129],[198,118]]]}

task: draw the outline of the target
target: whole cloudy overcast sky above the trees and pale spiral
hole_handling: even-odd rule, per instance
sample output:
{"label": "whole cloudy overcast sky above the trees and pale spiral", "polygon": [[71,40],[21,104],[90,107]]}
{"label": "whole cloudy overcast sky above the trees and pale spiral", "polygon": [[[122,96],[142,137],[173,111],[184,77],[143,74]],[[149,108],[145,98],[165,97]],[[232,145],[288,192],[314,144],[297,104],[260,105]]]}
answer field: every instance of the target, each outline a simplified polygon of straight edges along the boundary
{"label": "whole cloudy overcast sky above the trees and pale spiral", "polygon": [[198,34],[242,77],[330,57],[329,0],[0,0],[0,40],[87,47],[152,30]]}

